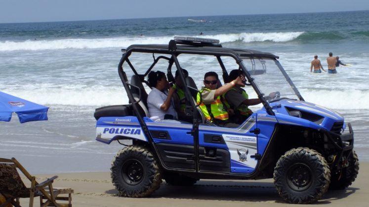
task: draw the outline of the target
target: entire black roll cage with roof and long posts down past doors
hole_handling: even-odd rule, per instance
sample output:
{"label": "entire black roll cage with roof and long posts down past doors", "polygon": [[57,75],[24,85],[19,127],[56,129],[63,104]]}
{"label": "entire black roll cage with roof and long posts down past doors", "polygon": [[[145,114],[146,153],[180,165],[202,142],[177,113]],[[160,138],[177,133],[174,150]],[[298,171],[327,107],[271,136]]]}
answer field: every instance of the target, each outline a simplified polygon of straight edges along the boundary
{"label": "entire black roll cage with roof and long posts down past doors", "polygon": [[[293,90],[295,91],[296,95],[299,97],[300,100],[303,101],[303,98],[297,91],[296,87],[294,86],[293,82],[289,79],[287,73],[284,71],[282,66],[279,64],[277,59],[278,56],[275,56],[271,53],[265,53],[260,52],[257,50],[247,50],[247,49],[239,49],[239,48],[223,48],[221,44],[219,44],[218,40],[214,39],[204,39],[204,38],[193,38],[193,37],[174,37],[174,40],[170,40],[169,43],[166,45],[164,44],[146,44],[146,45],[131,45],[127,47],[126,49],[122,49],[123,56],[120,60],[119,66],[118,66],[118,72],[120,75],[120,78],[122,80],[123,86],[125,88],[125,91],[127,93],[129,102],[132,103],[133,110],[135,114],[140,114],[139,111],[139,102],[141,101],[141,94],[139,95],[139,99],[134,99],[130,88],[136,87],[129,83],[126,72],[123,70],[123,63],[126,62],[129,66],[129,68],[133,71],[135,75],[140,77],[141,82],[145,82],[147,85],[147,81],[145,80],[145,77],[149,74],[149,72],[154,68],[154,66],[159,62],[159,60],[164,59],[168,61],[168,68],[167,68],[167,77],[168,81],[173,81],[173,74],[172,74],[172,68],[173,64],[175,65],[175,68],[179,70],[179,76],[180,81],[182,83],[186,83],[185,77],[183,76],[183,70],[180,66],[180,63],[177,59],[177,57],[180,54],[196,54],[196,55],[211,55],[216,57],[221,69],[222,69],[222,76],[225,83],[229,82],[228,72],[226,67],[224,66],[224,63],[222,61],[221,57],[228,56],[232,57],[237,65],[239,66],[239,69],[242,70],[246,76],[246,80],[248,82],[247,85],[252,86],[255,93],[257,94],[257,97],[261,100],[261,103],[265,107],[267,113],[269,115],[275,115],[272,107],[269,105],[269,103],[266,101],[264,94],[260,91],[257,84],[254,82],[254,78],[252,77],[252,74],[250,74],[249,71],[252,71],[252,69],[247,70],[243,64],[243,58],[267,58],[267,59],[273,59],[277,63],[278,68],[282,71],[283,75],[285,76],[286,80],[288,81],[289,85]],[[150,65],[150,67],[146,70],[144,74],[139,74],[137,70],[134,68],[134,66],[130,62],[130,55],[132,52],[135,53],[151,53],[153,57],[153,63]],[[159,56],[156,57],[156,54]],[[166,56],[165,56],[166,55]],[[167,57],[169,56],[169,57]],[[189,90],[189,86],[187,84],[183,84],[184,91],[185,91],[185,97],[187,100],[192,100],[192,95]],[[192,89],[193,90],[193,89]],[[190,102],[192,108],[195,110],[197,105],[194,102]],[[198,113],[193,113],[194,122],[193,122],[193,128],[191,132],[188,132],[194,137],[194,143],[195,143],[195,158],[198,159],[198,150],[199,149],[199,125],[201,123],[201,120],[199,119]],[[137,116],[137,119],[143,129],[144,134],[147,138],[152,139],[148,130],[148,127],[143,119],[142,116]],[[150,143],[152,144],[153,141],[151,140]],[[155,150],[156,147],[153,146]],[[198,162],[195,162],[198,164]],[[198,166],[196,166],[196,169],[198,169]]]}

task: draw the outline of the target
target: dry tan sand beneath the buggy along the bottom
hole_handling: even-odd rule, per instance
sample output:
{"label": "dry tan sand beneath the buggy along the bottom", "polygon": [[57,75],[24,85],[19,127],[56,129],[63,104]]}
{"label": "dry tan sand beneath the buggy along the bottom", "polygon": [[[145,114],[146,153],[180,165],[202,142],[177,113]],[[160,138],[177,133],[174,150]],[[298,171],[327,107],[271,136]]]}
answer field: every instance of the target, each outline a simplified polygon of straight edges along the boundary
{"label": "dry tan sand beneath the buggy along the bottom", "polygon": [[[355,182],[346,190],[328,191],[315,205],[339,207],[367,207],[369,202],[369,163],[360,163]],[[40,174],[42,181],[55,174]],[[149,198],[123,198],[110,179],[110,172],[61,173],[54,181],[55,187],[74,189],[74,207],[276,207],[291,206],[284,202],[274,188],[272,179],[264,180],[200,180],[194,186],[177,187],[165,182]],[[39,205],[35,199],[35,206]],[[28,199],[21,199],[22,206],[28,206]],[[310,206],[310,205],[308,205]]]}

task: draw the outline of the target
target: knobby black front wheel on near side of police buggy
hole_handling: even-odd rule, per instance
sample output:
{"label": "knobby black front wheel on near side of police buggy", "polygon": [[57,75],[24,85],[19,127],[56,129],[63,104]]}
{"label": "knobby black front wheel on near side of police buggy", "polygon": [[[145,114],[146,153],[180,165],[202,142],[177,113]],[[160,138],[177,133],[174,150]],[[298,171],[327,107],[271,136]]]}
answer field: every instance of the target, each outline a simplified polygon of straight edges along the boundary
{"label": "knobby black front wheel on near side of police buggy", "polygon": [[281,156],[273,175],[279,195],[292,204],[318,201],[327,192],[330,182],[326,159],[305,147],[293,148]]}

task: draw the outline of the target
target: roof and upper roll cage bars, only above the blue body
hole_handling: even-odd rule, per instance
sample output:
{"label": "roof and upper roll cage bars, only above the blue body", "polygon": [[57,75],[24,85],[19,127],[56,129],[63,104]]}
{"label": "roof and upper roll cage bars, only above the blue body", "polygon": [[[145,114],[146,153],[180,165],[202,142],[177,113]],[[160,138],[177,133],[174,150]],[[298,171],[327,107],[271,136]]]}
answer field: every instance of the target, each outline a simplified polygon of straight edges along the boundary
{"label": "roof and upper roll cage bars, only above the blue body", "polygon": [[[180,67],[179,61],[177,59],[178,55],[180,54],[197,54],[197,55],[212,55],[215,56],[218,60],[218,63],[220,67],[222,68],[222,76],[225,83],[228,83],[228,72],[223,64],[223,61],[221,59],[222,56],[228,56],[235,59],[236,63],[239,65],[239,69],[241,69],[245,76],[247,81],[249,82],[248,85],[251,85],[254,91],[256,92],[258,98],[261,100],[263,106],[265,107],[266,111],[269,115],[274,115],[274,112],[270,105],[265,100],[264,94],[260,91],[258,86],[255,84],[254,79],[252,78],[251,74],[249,73],[249,70],[247,70],[243,64],[240,64],[245,57],[252,57],[252,58],[269,58],[277,60],[279,57],[275,56],[271,53],[265,53],[260,52],[257,50],[247,50],[247,49],[239,49],[239,48],[223,48],[221,44],[219,44],[219,40],[216,39],[205,39],[205,38],[194,38],[194,37],[174,37],[174,40],[170,40],[169,43],[166,45],[164,44],[146,44],[146,45],[131,45],[127,47],[126,49],[122,49],[123,56],[121,58],[121,61],[118,66],[118,72],[120,75],[120,78],[122,80],[123,86],[126,90],[126,93],[128,95],[128,99],[130,103],[135,103],[133,96],[130,93],[129,90],[129,82],[127,75],[125,71],[123,70],[123,63],[126,62],[129,67],[132,69],[133,73],[140,77],[142,82],[145,81],[145,77],[149,74],[149,72],[154,68],[154,66],[158,63],[160,59],[165,59],[169,61],[168,68],[167,68],[167,77],[168,81],[173,81],[173,74],[172,74],[172,66],[175,64],[176,68],[181,71],[180,79],[183,83],[185,83],[185,79],[183,77],[182,68]],[[153,54],[153,63],[147,69],[147,71],[144,74],[139,74],[137,70],[134,68],[134,66],[129,61],[129,56],[132,52],[139,52],[139,53],[152,53]],[[169,55],[170,58],[166,56],[158,56],[155,57],[155,54],[163,54],[163,55]],[[286,77],[288,83],[293,88],[297,96],[300,100],[303,101],[302,96],[297,91],[296,87],[294,86],[293,82],[289,79],[287,73],[285,70],[282,69],[282,66],[279,64],[278,61],[277,65],[281,69],[283,75]],[[186,99],[191,99],[191,93],[188,90],[188,87],[186,84],[184,85]],[[195,105],[192,105],[195,107]],[[136,111],[135,107],[134,110]],[[137,112],[137,111],[136,111]]]}

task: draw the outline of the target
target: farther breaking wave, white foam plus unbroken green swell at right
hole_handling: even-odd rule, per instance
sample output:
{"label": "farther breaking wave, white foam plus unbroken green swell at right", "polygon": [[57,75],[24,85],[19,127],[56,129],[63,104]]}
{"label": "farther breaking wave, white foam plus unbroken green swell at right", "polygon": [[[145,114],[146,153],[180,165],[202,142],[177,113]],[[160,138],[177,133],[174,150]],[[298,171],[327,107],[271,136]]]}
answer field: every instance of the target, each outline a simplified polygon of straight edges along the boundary
{"label": "farther breaking wave, white foam plus unbroken green swell at right", "polygon": [[[178,36],[181,36],[178,34]],[[219,39],[221,43],[230,42],[290,42],[307,43],[316,40],[336,41],[347,38],[368,39],[369,32],[340,34],[337,32],[273,32],[273,33],[235,33],[218,35],[197,35],[202,38]],[[0,51],[14,50],[56,50],[56,49],[95,49],[119,47],[131,44],[167,44],[173,36],[121,36],[111,38],[66,38],[47,40],[0,41]]]}

